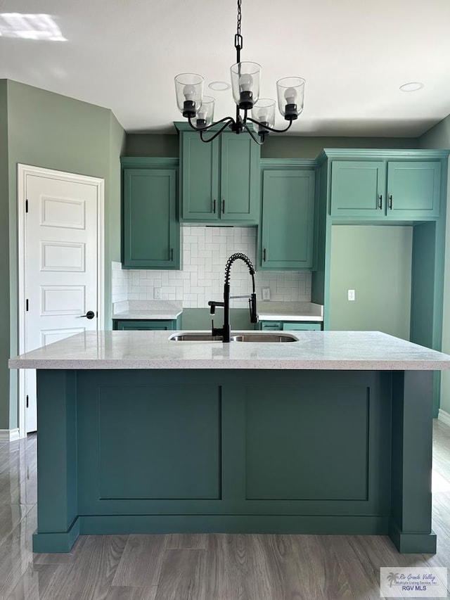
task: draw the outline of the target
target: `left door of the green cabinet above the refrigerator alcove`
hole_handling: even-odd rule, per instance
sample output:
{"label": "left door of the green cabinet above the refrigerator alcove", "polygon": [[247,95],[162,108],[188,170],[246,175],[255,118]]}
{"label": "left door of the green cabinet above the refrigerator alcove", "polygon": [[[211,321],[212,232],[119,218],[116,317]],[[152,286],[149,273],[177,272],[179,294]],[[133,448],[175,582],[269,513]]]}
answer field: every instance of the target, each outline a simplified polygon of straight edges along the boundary
{"label": "left door of the green cabinet above the refrigerator alcove", "polygon": [[383,160],[333,160],[331,163],[331,216],[380,217],[385,215]]}

